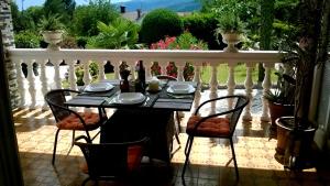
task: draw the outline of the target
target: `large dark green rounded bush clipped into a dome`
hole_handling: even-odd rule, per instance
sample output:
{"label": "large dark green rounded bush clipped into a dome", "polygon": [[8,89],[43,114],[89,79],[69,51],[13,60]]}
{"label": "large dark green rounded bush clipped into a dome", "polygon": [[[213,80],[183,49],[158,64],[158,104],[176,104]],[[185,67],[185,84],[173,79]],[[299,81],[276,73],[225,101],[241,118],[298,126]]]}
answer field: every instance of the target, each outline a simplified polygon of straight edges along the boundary
{"label": "large dark green rounded bush clipped into a dome", "polygon": [[151,11],[143,19],[140,40],[151,44],[163,40],[165,36],[177,36],[183,32],[183,22],[176,12],[167,9]]}

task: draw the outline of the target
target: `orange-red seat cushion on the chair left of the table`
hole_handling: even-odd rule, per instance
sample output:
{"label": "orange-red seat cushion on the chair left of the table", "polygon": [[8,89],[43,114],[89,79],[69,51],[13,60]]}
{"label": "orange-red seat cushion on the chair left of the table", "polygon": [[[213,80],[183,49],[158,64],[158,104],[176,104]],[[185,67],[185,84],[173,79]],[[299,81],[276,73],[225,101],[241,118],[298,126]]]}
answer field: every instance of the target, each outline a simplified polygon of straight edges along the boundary
{"label": "orange-red seat cushion on the chair left of the table", "polygon": [[[94,130],[99,127],[100,117],[98,113],[94,112],[78,112],[79,116],[84,119],[87,130]],[[58,129],[62,130],[85,130],[79,118],[72,113],[68,117],[64,118],[56,123]]]}

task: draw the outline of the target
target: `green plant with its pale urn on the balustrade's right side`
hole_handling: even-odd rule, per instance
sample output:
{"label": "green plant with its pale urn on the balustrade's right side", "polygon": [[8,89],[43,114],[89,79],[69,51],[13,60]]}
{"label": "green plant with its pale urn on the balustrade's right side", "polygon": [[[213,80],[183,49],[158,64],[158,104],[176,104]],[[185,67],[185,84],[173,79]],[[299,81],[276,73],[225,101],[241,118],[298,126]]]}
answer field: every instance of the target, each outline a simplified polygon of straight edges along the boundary
{"label": "green plant with its pale urn on the balustrade's right side", "polygon": [[241,33],[243,33],[243,22],[234,12],[223,11],[218,19],[218,28],[216,29],[216,36],[218,40],[219,34],[222,35],[223,43],[228,46],[224,52],[238,52],[234,46],[241,40]]}

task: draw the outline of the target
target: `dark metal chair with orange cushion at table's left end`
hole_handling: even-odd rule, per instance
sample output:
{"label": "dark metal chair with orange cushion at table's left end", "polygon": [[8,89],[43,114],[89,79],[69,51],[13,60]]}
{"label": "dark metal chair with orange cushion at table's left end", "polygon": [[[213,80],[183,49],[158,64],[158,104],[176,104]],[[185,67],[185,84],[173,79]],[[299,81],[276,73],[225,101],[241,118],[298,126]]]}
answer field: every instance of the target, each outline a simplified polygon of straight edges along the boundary
{"label": "dark metal chair with orange cushion at table's left end", "polygon": [[66,102],[66,96],[72,96],[78,94],[79,91],[69,90],[69,89],[54,89],[48,91],[45,95],[45,100],[48,103],[55,121],[57,131],[55,134],[55,142],[54,142],[54,150],[53,150],[53,158],[52,164],[55,163],[55,155],[56,155],[56,146],[57,146],[57,139],[58,133],[61,130],[72,130],[73,131],[73,144],[75,139],[75,131],[86,131],[86,135],[89,141],[94,140],[90,138],[89,132],[91,130],[98,129],[102,122],[106,121],[106,113],[103,110],[99,109],[99,113],[94,112],[76,112],[69,109]]}

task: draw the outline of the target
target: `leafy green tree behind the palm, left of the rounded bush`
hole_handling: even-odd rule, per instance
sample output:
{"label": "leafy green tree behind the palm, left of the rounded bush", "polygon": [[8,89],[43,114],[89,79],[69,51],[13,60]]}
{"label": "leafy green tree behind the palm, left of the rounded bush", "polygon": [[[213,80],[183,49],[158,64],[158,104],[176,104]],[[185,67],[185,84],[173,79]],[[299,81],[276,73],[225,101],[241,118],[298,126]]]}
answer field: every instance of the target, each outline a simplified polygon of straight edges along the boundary
{"label": "leafy green tree behind the palm, left of the rounded bush", "polygon": [[97,22],[109,24],[119,17],[108,0],[90,1],[88,6],[76,8],[73,18],[73,32],[79,36],[92,36],[99,33]]}

